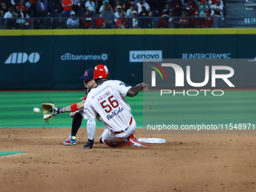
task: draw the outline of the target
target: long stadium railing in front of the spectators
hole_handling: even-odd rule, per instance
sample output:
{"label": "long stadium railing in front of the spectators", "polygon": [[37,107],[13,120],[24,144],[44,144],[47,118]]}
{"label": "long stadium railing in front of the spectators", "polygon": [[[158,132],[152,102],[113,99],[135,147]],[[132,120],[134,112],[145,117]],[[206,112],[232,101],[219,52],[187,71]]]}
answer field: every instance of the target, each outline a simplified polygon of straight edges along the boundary
{"label": "long stadium railing in front of the spectators", "polygon": [[66,17],[0,18],[0,29],[177,29],[256,26],[256,18],[245,17],[75,17],[70,22],[73,26],[68,24],[68,20],[72,19]]}

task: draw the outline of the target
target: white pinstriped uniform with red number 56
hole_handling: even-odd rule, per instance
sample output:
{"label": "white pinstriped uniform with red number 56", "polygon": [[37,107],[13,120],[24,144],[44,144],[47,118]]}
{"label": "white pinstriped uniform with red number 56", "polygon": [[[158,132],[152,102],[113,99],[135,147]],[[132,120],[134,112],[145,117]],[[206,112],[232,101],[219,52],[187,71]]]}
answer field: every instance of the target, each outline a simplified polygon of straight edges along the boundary
{"label": "white pinstriped uniform with red number 56", "polygon": [[105,130],[102,142],[122,142],[136,131],[136,121],[130,105],[124,99],[130,86],[121,81],[108,80],[92,89],[84,103],[84,118],[102,117]]}

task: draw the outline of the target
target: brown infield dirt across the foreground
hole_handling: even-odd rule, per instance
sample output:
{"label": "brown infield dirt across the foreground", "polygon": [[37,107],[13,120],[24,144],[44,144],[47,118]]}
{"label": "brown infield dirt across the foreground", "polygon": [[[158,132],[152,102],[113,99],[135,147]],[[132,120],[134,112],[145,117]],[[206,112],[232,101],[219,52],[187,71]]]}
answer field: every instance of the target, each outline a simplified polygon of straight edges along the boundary
{"label": "brown infield dirt across the foreground", "polygon": [[166,144],[151,148],[64,146],[70,129],[0,129],[0,188],[8,191],[256,191],[255,135],[144,135]]}

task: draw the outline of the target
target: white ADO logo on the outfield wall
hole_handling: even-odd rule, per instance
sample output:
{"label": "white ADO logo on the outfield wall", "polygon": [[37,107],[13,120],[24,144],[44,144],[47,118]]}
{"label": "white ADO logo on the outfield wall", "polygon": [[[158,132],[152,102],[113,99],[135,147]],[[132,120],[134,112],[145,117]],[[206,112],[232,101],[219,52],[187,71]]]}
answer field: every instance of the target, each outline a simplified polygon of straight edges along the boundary
{"label": "white ADO logo on the outfield wall", "polygon": [[5,64],[20,64],[29,60],[31,63],[38,62],[40,59],[40,54],[37,52],[30,53],[11,53],[6,59]]}

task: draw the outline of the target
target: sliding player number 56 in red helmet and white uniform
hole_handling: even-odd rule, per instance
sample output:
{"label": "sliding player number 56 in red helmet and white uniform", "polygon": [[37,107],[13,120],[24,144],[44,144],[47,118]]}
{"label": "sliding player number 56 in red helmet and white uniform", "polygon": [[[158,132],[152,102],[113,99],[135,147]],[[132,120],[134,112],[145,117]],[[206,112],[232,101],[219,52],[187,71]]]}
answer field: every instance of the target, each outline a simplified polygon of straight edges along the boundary
{"label": "sliding player number 56 in red helmet and white uniform", "polygon": [[125,96],[136,96],[139,91],[148,90],[148,84],[141,83],[131,87],[121,81],[108,80],[108,68],[104,65],[95,67],[93,79],[98,86],[90,91],[84,103],[88,142],[93,145],[95,120],[96,115],[99,114],[105,126],[99,142],[110,147],[131,145],[149,148],[148,144],[139,142],[133,137],[136,121],[131,114],[130,105],[124,99]]}

